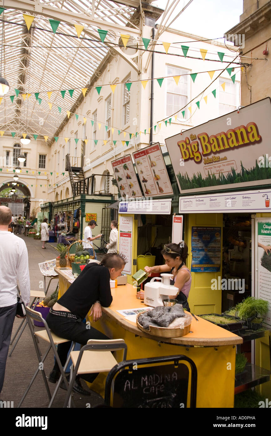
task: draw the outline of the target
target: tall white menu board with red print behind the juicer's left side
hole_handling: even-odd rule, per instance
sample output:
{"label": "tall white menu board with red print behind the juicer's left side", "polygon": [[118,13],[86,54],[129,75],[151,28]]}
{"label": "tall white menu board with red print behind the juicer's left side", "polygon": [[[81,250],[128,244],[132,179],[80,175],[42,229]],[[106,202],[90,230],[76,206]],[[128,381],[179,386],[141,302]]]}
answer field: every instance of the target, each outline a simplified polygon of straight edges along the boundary
{"label": "tall white menu board with red print behind the juicer's left side", "polygon": [[120,216],[119,220],[119,252],[127,259],[123,272],[132,274],[132,232],[134,217]]}

